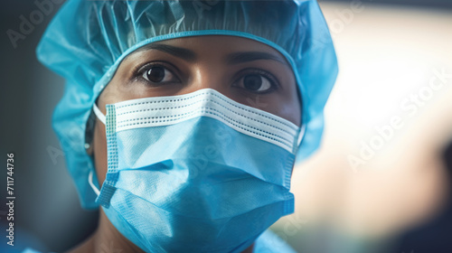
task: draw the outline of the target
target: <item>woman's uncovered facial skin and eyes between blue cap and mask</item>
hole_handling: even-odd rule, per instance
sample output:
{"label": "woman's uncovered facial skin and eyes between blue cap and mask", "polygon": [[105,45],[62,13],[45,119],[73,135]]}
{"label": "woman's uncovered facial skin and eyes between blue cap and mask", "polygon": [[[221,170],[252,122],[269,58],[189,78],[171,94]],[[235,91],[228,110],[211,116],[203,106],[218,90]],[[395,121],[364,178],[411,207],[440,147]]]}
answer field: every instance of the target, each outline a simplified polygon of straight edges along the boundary
{"label": "woman's uncovered facial skin and eyes between blue cap and mask", "polygon": [[[107,104],[206,88],[300,126],[297,83],[284,56],[264,43],[233,36],[178,38],[131,53],[100,94],[97,105],[105,115]],[[101,184],[107,173],[107,141],[99,119],[93,148]]]}

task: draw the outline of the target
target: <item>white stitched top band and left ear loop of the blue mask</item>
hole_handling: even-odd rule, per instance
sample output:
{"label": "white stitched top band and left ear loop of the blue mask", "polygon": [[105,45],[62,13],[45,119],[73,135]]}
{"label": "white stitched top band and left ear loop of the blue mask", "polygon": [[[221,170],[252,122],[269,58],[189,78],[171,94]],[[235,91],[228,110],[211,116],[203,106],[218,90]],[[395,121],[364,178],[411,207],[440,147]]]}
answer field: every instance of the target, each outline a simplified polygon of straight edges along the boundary
{"label": "white stitched top band and left ear loop of the blue mask", "polygon": [[[199,89],[171,97],[138,98],[108,106],[116,108],[114,121],[115,131],[118,132],[136,127],[177,124],[191,117],[212,117],[245,135],[279,145],[292,154],[296,154],[297,145],[304,134],[304,128],[300,129],[288,120],[268,112],[241,105],[214,89]],[[108,127],[107,117],[96,104],[93,105],[93,111],[99,121]],[[214,130],[214,135],[220,135],[218,129]],[[204,131],[208,131],[205,135],[209,135],[210,130]],[[175,135],[177,133],[180,136],[182,132],[176,132]],[[89,184],[94,192],[99,193],[99,189],[92,184],[92,175],[89,176]]]}

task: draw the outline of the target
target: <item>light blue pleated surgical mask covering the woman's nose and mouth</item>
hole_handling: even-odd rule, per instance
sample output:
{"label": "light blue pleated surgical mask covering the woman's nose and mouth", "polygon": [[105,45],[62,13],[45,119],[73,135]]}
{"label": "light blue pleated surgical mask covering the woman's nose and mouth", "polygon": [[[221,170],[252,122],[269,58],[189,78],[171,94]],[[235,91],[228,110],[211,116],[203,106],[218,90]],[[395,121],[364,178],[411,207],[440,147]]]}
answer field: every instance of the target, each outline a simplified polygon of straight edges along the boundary
{"label": "light blue pleated surgical mask covering the woman's nose and mouth", "polygon": [[214,89],[94,106],[107,129],[98,201],[146,252],[241,252],[294,211],[302,131]]}

